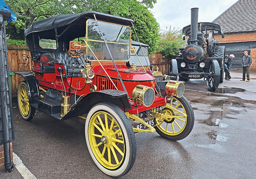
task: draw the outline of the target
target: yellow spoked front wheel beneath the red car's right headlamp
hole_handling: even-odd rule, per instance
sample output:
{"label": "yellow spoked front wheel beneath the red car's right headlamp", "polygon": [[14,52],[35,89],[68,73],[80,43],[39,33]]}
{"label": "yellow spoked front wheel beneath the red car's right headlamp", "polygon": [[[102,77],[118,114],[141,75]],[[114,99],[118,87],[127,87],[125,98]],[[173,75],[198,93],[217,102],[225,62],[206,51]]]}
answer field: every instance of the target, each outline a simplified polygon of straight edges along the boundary
{"label": "yellow spoked front wheel beneath the red car's right headlamp", "polygon": [[[165,108],[162,113],[165,115],[177,116],[175,118],[165,118],[156,122],[156,132],[169,140],[181,140],[187,137],[194,126],[194,111],[189,101],[182,96],[181,98],[172,97],[170,100],[170,106],[176,110]],[[187,117],[183,117],[183,114],[187,114]]]}

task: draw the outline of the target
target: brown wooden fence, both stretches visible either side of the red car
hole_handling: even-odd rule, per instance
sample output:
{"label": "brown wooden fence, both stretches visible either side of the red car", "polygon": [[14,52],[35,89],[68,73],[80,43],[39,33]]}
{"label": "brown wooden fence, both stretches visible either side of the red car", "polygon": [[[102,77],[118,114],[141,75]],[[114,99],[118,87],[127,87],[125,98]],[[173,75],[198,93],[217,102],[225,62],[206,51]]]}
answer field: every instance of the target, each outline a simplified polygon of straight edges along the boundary
{"label": "brown wooden fence, both stretches visible either side of the red car", "polygon": [[[30,55],[27,46],[15,46],[8,45],[8,61],[9,61],[9,69],[11,71],[28,71],[30,72],[32,67],[32,60],[27,60],[27,58],[23,57],[22,54]],[[156,52],[153,55],[149,55],[150,64],[154,66],[154,70],[159,68],[163,74],[169,74],[169,56],[162,58],[162,54],[160,52]],[[19,84],[23,81],[23,77],[20,75],[12,75],[12,96],[16,97]]]}

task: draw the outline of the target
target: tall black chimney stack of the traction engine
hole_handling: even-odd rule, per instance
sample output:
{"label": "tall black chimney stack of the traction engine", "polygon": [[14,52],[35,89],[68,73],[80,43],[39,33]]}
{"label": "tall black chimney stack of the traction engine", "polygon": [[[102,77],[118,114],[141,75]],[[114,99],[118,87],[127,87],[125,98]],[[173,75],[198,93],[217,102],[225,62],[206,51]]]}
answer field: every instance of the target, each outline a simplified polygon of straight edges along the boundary
{"label": "tall black chimney stack of the traction engine", "polygon": [[198,24],[198,7],[191,8],[191,40],[190,45],[197,45],[197,24]]}

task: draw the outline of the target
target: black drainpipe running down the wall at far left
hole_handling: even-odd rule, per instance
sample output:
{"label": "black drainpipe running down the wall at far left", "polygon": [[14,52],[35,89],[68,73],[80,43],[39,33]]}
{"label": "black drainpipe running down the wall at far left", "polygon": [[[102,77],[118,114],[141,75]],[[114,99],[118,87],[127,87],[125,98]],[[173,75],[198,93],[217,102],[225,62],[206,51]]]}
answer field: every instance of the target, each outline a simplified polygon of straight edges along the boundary
{"label": "black drainpipe running down the wall at far left", "polygon": [[[6,74],[4,66],[4,17],[0,11],[0,100],[1,100],[1,112],[2,112],[2,128],[3,128],[3,150],[4,150],[4,166],[7,172],[12,172],[13,165],[11,160],[10,151],[10,133],[8,126],[8,109],[7,109],[7,85]],[[11,16],[11,13],[10,13]],[[9,16],[9,17],[10,17]],[[7,49],[6,49],[7,50]]]}

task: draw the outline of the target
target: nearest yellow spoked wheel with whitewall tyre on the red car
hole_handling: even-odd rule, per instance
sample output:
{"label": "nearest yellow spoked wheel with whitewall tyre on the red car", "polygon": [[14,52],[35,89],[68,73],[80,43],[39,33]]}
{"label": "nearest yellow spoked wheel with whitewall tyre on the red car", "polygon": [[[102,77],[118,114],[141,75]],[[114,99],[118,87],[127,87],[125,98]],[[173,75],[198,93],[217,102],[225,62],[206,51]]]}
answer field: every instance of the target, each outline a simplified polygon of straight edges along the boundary
{"label": "nearest yellow spoked wheel with whitewall tyre on the red car", "polygon": [[135,136],[124,112],[114,104],[100,103],[88,113],[86,143],[92,159],[102,172],[120,177],[135,162]]}

